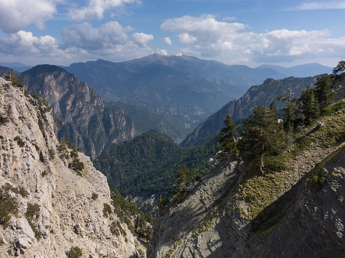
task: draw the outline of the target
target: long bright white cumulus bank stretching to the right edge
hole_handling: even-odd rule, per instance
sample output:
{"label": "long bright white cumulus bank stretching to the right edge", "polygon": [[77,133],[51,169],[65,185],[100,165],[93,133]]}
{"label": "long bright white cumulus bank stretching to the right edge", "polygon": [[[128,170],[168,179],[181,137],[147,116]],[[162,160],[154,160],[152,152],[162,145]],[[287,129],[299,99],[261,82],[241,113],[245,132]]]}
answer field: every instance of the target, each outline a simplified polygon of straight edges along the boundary
{"label": "long bright white cumulus bank stretching to the right edge", "polygon": [[[327,30],[273,30],[263,34],[247,31],[242,23],[216,21],[211,15],[168,19],[161,29],[175,32],[186,48],[185,54],[231,56],[235,60],[293,60],[317,54],[339,53],[345,49],[342,39],[328,39]],[[338,53],[338,54],[339,54]],[[345,54],[345,53],[344,53]]]}

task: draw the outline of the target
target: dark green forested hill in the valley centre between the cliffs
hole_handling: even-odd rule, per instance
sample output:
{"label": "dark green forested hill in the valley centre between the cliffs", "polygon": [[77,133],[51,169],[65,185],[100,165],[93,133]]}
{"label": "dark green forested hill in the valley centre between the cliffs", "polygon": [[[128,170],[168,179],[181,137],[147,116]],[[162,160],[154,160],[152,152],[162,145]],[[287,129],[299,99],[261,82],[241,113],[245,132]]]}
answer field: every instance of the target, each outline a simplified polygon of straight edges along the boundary
{"label": "dark green forested hill in the valley centre between the cliffs", "polygon": [[149,131],[131,141],[106,149],[94,160],[95,167],[108,178],[110,187],[123,195],[148,199],[168,197],[180,166],[208,171],[213,143],[197,148],[179,147],[159,131]]}

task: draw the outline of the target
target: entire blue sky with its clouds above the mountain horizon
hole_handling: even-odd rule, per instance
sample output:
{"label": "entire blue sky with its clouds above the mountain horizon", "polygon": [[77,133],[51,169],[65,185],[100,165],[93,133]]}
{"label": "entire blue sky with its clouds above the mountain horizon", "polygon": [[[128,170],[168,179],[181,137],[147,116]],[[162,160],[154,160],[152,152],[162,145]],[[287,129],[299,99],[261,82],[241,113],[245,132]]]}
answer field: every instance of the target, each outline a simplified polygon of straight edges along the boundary
{"label": "entire blue sky with its clouds above the mountain horizon", "polygon": [[345,60],[345,0],[1,0],[0,61],[69,65],[159,53],[229,65]]}

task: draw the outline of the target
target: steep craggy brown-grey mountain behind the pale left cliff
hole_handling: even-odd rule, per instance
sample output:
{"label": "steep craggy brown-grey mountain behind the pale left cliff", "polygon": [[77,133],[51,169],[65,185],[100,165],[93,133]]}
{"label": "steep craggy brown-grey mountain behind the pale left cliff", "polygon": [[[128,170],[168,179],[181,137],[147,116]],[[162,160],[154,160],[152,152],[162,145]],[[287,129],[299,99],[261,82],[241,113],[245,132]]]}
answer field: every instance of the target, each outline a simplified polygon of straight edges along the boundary
{"label": "steep craggy brown-grey mountain behind the pale left cliff", "polygon": [[37,65],[19,75],[31,94],[39,94],[57,118],[57,135],[96,158],[107,144],[135,136],[130,117],[120,107],[104,107],[94,89],[55,65]]}

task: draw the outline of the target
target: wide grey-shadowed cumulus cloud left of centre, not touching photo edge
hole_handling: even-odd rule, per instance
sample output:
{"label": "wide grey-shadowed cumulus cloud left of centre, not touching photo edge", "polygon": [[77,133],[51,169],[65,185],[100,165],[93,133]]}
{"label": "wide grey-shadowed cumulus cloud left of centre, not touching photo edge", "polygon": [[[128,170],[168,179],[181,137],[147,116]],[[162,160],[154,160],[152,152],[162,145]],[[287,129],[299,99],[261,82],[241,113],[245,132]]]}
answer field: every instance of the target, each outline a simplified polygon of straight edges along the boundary
{"label": "wide grey-shadowed cumulus cloud left of centre, not touching photo edge", "polygon": [[117,45],[126,45],[126,32],[130,27],[122,27],[117,21],[109,21],[99,28],[93,28],[90,23],[72,24],[61,29],[63,45],[67,49],[77,47],[83,50],[112,50]]}

